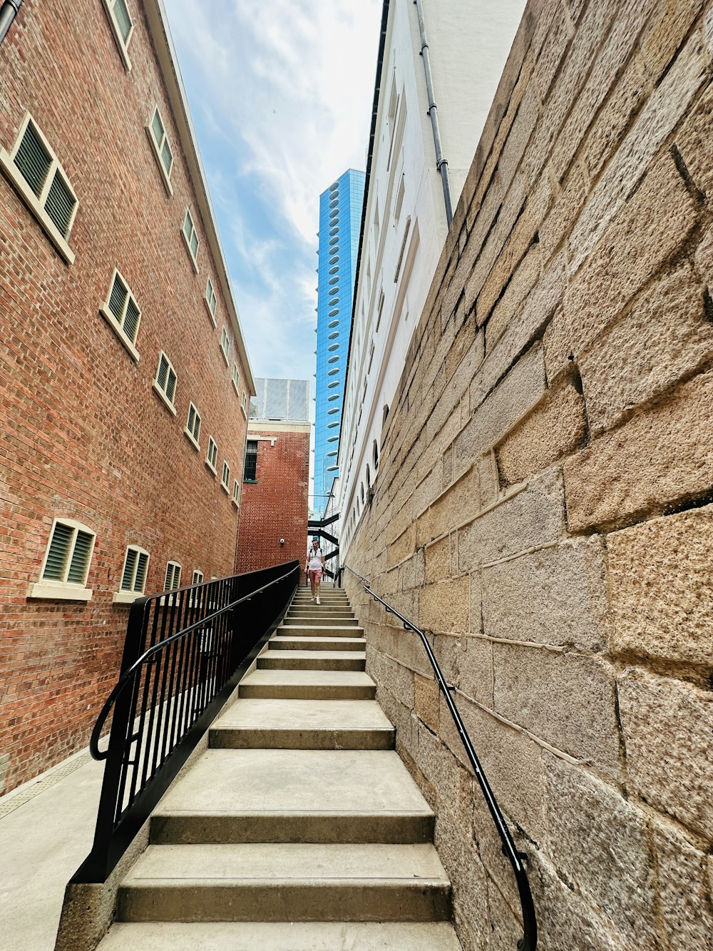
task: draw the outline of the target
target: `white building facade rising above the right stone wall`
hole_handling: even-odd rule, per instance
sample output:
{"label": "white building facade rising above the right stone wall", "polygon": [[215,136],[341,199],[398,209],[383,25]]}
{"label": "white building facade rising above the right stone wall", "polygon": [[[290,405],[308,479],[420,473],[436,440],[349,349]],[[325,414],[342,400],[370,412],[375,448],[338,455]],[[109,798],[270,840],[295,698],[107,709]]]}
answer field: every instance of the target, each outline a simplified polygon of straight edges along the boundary
{"label": "white building facade rising above the right stone wall", "polygon": [[525,0],[384,0],[335,485],[342,560],[450,223],[424,61],[454,207],[524,9]]}

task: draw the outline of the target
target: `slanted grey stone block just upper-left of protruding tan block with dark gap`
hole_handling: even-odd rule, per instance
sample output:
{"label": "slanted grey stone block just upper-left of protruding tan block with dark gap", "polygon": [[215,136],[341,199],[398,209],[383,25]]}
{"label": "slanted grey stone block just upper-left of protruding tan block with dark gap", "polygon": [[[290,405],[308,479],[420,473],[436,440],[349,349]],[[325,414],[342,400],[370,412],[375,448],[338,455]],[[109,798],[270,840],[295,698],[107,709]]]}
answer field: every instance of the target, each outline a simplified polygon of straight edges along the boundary
{"label": "slanted grey stone block just upper-left of protruding tan block with dark gap", "polygon": [[545,392],[542,347],[539,344],[531,347],[485,401],[480,398],[479,377],[480,374],[476,374],[473,378],[470,397],[471,405],[477,409],[453,442],[456,473],[462,472],[484,450],[490,449],[542,397]]}

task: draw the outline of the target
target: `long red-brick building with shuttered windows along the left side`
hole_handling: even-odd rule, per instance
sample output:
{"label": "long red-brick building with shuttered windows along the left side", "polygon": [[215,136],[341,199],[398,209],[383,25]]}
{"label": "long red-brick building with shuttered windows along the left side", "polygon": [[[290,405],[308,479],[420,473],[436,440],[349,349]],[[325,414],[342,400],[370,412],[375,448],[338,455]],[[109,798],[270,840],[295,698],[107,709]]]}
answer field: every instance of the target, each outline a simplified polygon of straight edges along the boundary
{"label": "long red-brick building with shuttered windows along the left side", "polygon": [[0,47],[0,792],[87,742],[127,604],[233,572],[254,392],[160,0]]}

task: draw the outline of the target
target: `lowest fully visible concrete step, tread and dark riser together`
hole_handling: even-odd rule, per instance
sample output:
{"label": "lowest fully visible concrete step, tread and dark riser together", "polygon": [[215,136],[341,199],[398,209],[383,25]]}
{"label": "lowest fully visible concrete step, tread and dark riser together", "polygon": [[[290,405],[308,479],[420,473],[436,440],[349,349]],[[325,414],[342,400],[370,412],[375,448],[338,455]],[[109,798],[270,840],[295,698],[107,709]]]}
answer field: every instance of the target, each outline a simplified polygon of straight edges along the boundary
{"label": "lowest fully visible concrete step, tread and dark riser together", "polygon": [[438,922],[451,883],[433,845],[149,845],[119,889],[123,922]]}

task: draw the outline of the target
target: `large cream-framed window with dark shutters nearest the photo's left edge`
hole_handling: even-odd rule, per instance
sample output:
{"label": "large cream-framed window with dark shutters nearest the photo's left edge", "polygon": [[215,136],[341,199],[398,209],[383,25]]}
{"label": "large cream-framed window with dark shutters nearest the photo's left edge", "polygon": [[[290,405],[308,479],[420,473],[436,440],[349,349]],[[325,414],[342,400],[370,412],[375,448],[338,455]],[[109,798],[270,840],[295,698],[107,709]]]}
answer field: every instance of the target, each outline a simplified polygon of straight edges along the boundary
{"label": "large cream-framed window with dark shutters nearest the photo's left edge", "polygon": [[0,166],[49,240],[68,264],[74,252],[67,244],[79,202],[67,175],[29,112],[12,152],[0,148]]}

